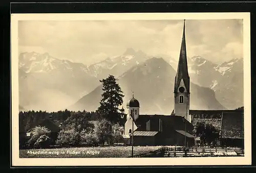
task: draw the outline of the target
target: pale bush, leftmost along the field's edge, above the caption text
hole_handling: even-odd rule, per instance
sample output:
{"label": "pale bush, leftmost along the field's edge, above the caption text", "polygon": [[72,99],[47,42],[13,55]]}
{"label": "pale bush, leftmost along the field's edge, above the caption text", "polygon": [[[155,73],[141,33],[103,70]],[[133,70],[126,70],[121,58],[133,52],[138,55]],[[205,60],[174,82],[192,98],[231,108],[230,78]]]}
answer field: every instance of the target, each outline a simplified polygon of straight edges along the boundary
{"label": "pale bush, leftmost along the field's edge, above the caption text", "polygon": [[35,145],[35,142],[37,141],[37,139],[42,136],[42,135],[46,135],[49,137],[51,131],[49,131],[48,128],[46,127],[42,127],[42,126],[36,126],[32,131],[31,131],[31,138],[28,141],[28,145],[29,147],[32,147]]}

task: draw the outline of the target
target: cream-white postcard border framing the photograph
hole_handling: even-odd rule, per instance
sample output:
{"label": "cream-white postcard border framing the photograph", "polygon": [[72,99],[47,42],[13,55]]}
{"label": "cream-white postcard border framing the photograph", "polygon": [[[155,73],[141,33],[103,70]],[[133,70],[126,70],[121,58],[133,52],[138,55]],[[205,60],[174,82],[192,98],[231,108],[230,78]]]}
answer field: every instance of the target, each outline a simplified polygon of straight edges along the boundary
{"label": "cream-white postcard border framing the photograph", "polygon": [[[19,158],[18,139],[18,20],[163,20],[243,19],[244,157],[202,158]],[[13,166],[139,166],[139,165],[250,165],[251,70],[250,13],[65,13],[11,14],[11,116]]]}

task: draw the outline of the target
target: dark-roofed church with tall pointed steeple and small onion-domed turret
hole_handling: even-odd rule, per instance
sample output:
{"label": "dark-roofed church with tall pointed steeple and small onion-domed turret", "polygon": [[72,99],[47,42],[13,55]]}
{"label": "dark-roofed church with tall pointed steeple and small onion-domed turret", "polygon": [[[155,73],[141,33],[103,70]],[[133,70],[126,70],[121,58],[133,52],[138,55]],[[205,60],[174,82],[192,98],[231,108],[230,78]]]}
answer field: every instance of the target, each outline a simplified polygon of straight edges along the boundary
{"label": "dark-roofed church with tall pointed steeple and small onion-domed turret", "polygon": [[[185,23],[178,70],[174,87],[174,111],[170,115],[140,115],[140,104],[133,98],[127,102],[124,135],[132,135],[134,145],[194,145],[194,126],[189,117],[189,75],[186,57]],[[133,122],[134,120],[134,122]]]}

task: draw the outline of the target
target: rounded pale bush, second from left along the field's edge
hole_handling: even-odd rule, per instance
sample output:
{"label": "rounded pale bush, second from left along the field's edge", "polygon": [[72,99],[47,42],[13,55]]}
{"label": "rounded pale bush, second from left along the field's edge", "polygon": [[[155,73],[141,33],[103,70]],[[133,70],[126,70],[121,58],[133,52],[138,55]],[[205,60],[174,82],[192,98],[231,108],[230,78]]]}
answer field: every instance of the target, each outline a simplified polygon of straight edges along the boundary
{"label": "rounded pale bush, second from left along the field's edge", "polygon": [[67,131],[61,130],[58,134],[56,144],[60,146],[75,146],[77,145],[79,138],[79,133],[75,132],[74,129]]}

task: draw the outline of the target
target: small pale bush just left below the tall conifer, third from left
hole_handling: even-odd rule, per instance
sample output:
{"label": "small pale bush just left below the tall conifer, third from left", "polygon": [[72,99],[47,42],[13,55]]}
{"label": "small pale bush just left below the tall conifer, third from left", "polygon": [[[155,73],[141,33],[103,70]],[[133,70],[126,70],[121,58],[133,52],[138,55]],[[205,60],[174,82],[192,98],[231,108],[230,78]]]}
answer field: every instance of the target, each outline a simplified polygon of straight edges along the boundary
{"label": "small pale bush just left below the tall conifer, third from left", "polygon": [[99,139],[94,131],[86,132],[82,131],[80,133],[80,144],[85,146],[95,146],[99,143]]}

